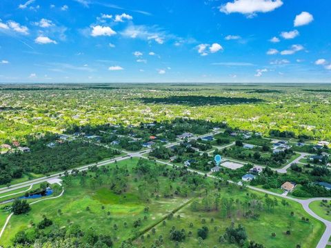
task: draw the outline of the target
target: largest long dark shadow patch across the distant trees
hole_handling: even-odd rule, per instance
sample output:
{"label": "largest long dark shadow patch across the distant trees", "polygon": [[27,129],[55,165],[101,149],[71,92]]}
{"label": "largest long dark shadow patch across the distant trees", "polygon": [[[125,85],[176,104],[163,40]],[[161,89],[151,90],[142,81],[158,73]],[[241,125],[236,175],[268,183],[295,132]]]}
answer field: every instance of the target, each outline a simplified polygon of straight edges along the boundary
{"label": "largest long dark shadow patch across the distant trees", "polygon": [[224,96],[168,96],[162,98],[143,97],[139,99],[143,103],[180,104],[189,106],[203,105],[235,105],[247,103],[262,103],[263,99],[245,97]]}

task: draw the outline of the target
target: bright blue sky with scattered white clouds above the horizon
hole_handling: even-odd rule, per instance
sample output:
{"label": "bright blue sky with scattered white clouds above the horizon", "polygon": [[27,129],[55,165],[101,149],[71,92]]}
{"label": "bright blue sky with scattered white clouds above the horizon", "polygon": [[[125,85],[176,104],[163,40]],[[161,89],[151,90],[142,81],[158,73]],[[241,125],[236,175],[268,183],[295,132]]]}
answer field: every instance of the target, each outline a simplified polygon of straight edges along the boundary
{"label": "bright blue sky with scattered white clouds above the horizon", "polygon": [[330,9],[330,0],[3,0],[0,82],[331,82]]}

